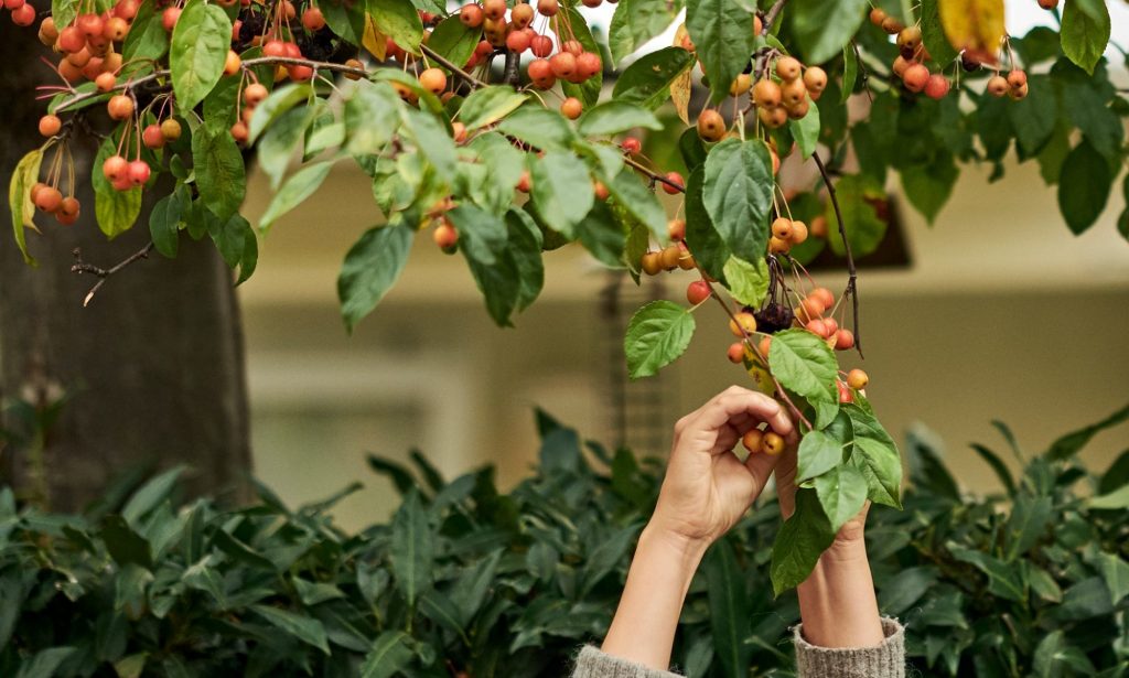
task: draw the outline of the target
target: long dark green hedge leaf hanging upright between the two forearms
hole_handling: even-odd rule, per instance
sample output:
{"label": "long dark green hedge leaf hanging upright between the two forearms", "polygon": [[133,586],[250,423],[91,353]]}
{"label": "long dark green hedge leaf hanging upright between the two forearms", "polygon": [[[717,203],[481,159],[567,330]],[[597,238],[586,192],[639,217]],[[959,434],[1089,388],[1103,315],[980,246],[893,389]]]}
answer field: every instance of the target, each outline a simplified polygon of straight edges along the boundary
{"label": "long dark green hedge leaf hanging upright between the two forearms", "polygon": [[709,625],[714,652],[721,664],[719,675],[741,678],[749,675],[753,648],[745,644],[752,608],[745,576],[737,565],[729,539],[719,539],[702,563],[709,596]]}

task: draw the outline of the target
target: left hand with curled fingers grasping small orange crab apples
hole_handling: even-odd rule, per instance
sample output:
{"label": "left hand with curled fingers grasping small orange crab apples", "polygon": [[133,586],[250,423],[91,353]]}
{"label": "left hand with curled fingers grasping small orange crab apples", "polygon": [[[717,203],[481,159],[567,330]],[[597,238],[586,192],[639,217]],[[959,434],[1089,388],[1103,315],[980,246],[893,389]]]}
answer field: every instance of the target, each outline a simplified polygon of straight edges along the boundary
{"label": "left hand with curled fingers grasping small orange crab apples", "polygon": [[747,388],[730,387],[679,420],[651,528],[703,548],[736,525],[778,459],[758,452],[742,463],[732,452],[761,422],[795,447],[795,426],[780,404]]}

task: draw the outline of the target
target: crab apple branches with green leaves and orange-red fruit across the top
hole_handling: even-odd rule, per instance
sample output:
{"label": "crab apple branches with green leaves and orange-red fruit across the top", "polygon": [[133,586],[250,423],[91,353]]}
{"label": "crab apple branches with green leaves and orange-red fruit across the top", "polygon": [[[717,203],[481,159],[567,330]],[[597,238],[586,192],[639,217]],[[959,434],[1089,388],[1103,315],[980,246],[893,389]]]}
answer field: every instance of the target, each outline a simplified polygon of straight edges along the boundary
{"label": "crab apple branches with green leaves and orange-red fruit across the top", "polygon": [[[676,360],[702,314],[729,325],[726,359],[803,434],[800,510],[771,564],[776,589],[791,588],[865,502],[900,504],[868,379],[840,366],[861,356],[856,259],[883,240],[889,179],[931,221],[962,166],[1003,173],[1014,147],[1058,184],[1067,227],[1089,228],[1126,151],[1109,11],[1068,0],[1060,30],[1013,36],[1003,0],[622,0],[601,42],[601,5],[56,0],[38,27],[58,54],[52,117],[12,178],[16,238],[37,219],[52,237],[63,193],[89,180],[107,235],[148,229],[166,257],[182,231],[211,240],[242,282],[259,240],[351,161],[385,219],[344,253],[350,331],[421,231],[465,259],[500,326],[537,299],[545,253],[570,243],[637,281],[685,278],[684,299],[632,317],[629,375]],[[671,28],[672,44],[641,50]],[[69,148],[91,130],[102,151],[76,177]],[[259,223],[239,214],[252,152],[274,191]],[[804,165],[815,171],[788,168]],[[805,270],[824,249],[842,290]]]}

